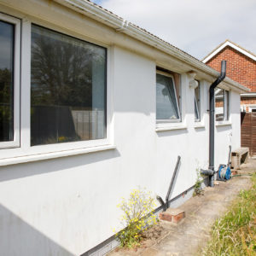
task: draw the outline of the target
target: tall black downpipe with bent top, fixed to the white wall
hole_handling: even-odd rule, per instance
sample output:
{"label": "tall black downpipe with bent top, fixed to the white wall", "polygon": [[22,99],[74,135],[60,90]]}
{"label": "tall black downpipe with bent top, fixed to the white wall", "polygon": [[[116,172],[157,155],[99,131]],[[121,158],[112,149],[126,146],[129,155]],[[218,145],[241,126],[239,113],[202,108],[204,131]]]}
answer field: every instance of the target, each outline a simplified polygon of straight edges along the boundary
{"label": "tall black downpipe with bent top, fixed to the white wall", "polygon": [[[214,89],[216,86],[224,80],[226,76],[226,61],[221,61],[221,73],[218,76],[218,79],[216,79],[209,89],[210,94],[210,132],[209,132],[209,169],[212,170],[214,173],[214,121],[215,121],[215,94]],[[214,186],[214,175],[209,176],[209,183],[210,186]]]}

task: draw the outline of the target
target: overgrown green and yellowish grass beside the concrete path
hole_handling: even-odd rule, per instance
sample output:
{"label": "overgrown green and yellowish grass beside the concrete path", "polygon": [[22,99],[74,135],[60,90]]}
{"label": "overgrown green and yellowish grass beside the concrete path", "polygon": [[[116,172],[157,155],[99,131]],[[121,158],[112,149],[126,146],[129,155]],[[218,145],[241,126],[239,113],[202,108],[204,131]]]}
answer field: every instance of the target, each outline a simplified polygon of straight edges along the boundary
{"label": "overgrown green and yellowish grass beside the concrete path", "polygon": [[241,190],[230,210],[213,224],[202,255],[256,256],[256,174],[252,182],[252,188]]}

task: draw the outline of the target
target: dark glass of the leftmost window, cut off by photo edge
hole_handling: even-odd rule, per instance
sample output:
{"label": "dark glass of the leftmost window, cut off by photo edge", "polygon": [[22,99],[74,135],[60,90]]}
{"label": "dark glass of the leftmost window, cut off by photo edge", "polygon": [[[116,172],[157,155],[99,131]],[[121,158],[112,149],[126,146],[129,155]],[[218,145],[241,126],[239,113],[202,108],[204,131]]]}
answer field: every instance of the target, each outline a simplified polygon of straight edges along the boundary
{"label": "dark glass of the leftmost window, cut off by photo edge", "polygon": [[14,140],[15,26],[0,20],[0,142]]}

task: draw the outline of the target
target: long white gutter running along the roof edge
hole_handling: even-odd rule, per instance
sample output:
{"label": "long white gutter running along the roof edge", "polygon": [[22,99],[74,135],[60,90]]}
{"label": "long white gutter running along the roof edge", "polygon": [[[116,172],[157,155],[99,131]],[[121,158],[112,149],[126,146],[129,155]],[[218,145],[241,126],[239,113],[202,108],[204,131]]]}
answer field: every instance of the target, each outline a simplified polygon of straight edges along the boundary
{"label": "long white gutter running along the roof edge", "polygon": [[[210,74],[212,77],[216,78],[219,75],[219,73],[212,69],[212,67],[208,67],[203,62],[195,59],[195,57],[183,52],[183,50],[176,48],[172,44],[165,42],[146,30],[143,30],[139,26],[131,24],[117,15],[113,15],[113,13],[109,12],[107,9],[102,9],[102,7],[94,3],[84,0],[53,1],[60,3],[69,9],[73,9],[83,15],[89,16],[93,20],[97,20],[107,26],[113,27],[113,29],[117,32],[123,32],[131,38],[136,38],[145,44],[153,46],[155,49],[160,49],[166,54],[176,57],[180,61],[185,61],[191,66],[199,68],[202,72]],[[231,87],[238,90],[240,93],[249,91],[249,89],[239,83],[236,83],[232,79],[226,78],[224,79],[224,82],[230,84]]]}

